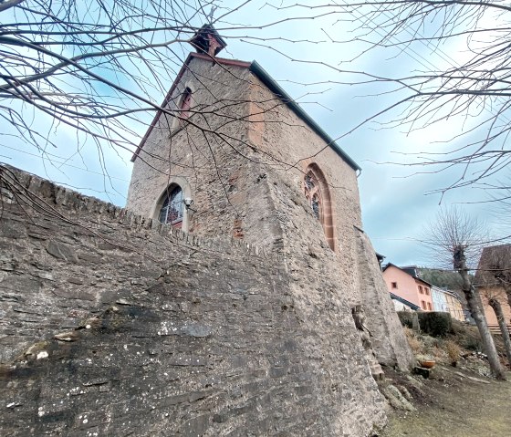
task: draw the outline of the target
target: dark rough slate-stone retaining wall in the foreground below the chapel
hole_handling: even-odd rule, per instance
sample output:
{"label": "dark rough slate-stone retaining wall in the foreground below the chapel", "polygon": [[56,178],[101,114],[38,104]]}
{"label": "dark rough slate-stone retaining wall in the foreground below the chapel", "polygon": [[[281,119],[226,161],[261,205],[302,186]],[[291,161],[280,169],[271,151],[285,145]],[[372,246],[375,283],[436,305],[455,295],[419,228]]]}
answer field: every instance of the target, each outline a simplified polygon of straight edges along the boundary
{"label": "dark rough slate-stone retaining wall in the foreground below the chapel", "polygon": [[329,249],[193,237],[1,170],[3,435],[363,436],[385,421]]}

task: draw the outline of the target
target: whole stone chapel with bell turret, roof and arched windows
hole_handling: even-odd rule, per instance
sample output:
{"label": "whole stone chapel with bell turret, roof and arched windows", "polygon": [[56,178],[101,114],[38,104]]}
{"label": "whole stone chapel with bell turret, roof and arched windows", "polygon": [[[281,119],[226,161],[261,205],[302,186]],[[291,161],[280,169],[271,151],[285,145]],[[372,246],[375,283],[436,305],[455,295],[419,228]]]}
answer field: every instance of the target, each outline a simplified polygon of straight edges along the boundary
{"label": "whole stone chapel with bell turret, roof and arched windows", "polygon": [[[383,365],[411,355],[362,230],[361,169],[257,62],[218,57],[213,26],[190,53],[134,162],[127,207],[186,233],[230,235],[284,255],[303,304],[321,302],[318,278],[363,308]],[[318,301],[314,296],[318,292]],[[308,309],[309,311],[310,309]],[[375,369],[378,371],[377,369]]]}

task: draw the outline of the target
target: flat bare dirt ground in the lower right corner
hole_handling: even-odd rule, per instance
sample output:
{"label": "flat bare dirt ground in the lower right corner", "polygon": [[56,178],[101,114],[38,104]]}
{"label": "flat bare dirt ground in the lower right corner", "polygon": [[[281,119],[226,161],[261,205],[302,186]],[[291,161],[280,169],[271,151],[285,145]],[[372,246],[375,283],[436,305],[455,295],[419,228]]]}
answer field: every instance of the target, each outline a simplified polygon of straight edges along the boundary
{"label": "flat bare dirt ground in the lower right corner", "polygon": [[412,394],[417,411],[391,411],[379,437],[511,437],[511,372],[507,381],[469,369],[435,368],[433,378],[391,374]]}

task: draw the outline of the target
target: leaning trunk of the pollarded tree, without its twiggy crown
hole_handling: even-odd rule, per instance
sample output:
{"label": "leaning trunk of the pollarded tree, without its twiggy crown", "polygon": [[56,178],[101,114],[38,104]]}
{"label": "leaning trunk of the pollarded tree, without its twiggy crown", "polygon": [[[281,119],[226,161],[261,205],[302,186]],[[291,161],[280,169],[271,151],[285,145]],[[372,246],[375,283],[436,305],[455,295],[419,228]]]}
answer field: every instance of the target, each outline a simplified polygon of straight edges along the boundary
{"label": "leaning trunk of the pollarded tree, without its twiggy crown", "polygon": [[468,309],[475,320],[475,325],[477,325],[477,329],[479,330],[481,340],[483,341],[483,348],[485,349],[485,354],[488,357],[488,362],[490,363],[490,369],[497,380],[506,380],[506,374],[500,364],[500,360],[498,359],[498,354],[495,349],[494,338],[488,328],[483,309],[479,306],[478,302],[480,299],[478,299],[474,286],[472,286],[470,282],[470,278],[468,277],[468,268],[464,261],[463,265],[459,265],[457,270],[462,277],[462,289],[466,299],[466,305],[468,306]]}

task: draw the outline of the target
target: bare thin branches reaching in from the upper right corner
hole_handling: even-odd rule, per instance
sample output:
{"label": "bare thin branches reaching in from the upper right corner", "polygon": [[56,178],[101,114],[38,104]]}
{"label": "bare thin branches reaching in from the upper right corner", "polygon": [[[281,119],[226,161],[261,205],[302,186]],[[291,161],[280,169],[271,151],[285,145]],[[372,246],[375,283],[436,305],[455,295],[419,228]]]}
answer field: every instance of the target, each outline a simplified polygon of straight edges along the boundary
{"label": "bare thin branches reaching in from the upper right corner", "polygon": [[[461,116],[463,127],[454,128],[452,136],[444,139],[453,143],[450,149],[438,153],[410,151],[416,161],[407,165],[428,167],[421,172],[459,168],[459,177],[432,192],[495,184],[493,177],[511,160],[510,1],[368,0],[275,7],[294,8],[297,16],[306,11],[337,16],[339,26],[355,30],[353,37],[336,42],[365,45],[357,57],[386,49],[390,57],[413,58],[412,73],[386,76],[378,71],[368,72],[372,75],[359,72],[363,73],[360,83],[394,84],[393,91],[385,88],[385,94],[396,93],[389,106],[368,114],[361,124],[379,120],[387,128],[417,130]],[[335,26],[324,31],[333,42],[329,34],[335,34]],[[461,136],[466,140],[456,144]],[[506,181],[501,183],[501,187],[510,187]]]}

